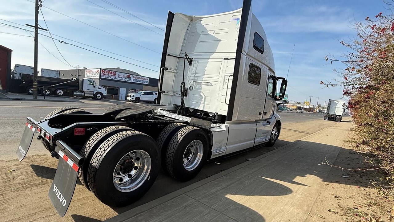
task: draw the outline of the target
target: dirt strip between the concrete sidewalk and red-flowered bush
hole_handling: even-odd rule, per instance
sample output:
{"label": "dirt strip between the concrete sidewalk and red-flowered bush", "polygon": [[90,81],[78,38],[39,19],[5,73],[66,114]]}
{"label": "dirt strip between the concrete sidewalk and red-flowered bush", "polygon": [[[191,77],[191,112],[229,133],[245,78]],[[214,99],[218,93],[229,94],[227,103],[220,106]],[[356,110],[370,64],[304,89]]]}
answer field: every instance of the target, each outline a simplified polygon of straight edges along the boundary
{"label": "dirt strip between the concrete sidewalk and red-flowered bush", "polygon": [[[348,138],[355,136],[349,131]],[[338,154],[335,166],[348,169],[371,169],[363,156],[354,151],[349,143]],[[344,221],[364,222],[370,217],[376,218],[390,213],[394,205],[393,198],[384,196],[380,190],[371,188],[371,181],[380,181],[381,174],[376,171],[349,171],[332,167],[329,178],[325,182],[326,192],[320,192],[309,215],[307,222]],[[382,216],[380,222],[389,221],[388,215]]]}

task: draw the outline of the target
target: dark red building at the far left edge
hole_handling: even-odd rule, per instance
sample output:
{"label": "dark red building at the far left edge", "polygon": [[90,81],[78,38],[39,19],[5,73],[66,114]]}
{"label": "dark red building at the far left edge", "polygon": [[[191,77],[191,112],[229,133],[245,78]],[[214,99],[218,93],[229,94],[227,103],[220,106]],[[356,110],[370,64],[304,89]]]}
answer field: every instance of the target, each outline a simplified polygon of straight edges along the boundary
{"label": "dark red building at the far left edge", "polygon": [[11,52],[11,49],[0,45],[0,90],[9,91]]}

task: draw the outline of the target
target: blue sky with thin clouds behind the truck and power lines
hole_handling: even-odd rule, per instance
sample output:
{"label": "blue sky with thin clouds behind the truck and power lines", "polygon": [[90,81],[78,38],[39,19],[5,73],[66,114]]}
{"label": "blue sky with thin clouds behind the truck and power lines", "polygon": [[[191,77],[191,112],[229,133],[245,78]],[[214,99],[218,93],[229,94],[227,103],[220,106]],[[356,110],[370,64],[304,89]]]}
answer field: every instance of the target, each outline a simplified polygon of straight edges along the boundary
{"label": "blue sky with thin clouds behind the truck and power lines", "polygon": [[[200,0],[198,2],[184,0],[108,0],[159,27],[156,28],[119,9],[113,8],[102,0],[89,1],[110,9],[127,19],[106,11],[87,0],[45,0],[43,5],[142,45],[152,51],[72,20],[47,8],[42,8],[49,30],[53,34],[71,40],[147,62],[152,65],[101,52],[152,70],[158,70],[157,66],[160,66],[164,31],[159,28],[165,29],[168,10],[189,15],[209,15],[242,7],[242,1],[240,0]],[[0,19],[20,24],[34,23],[34,4],[32,2],[27,0],[1,0],[0,2],[2,4]],[[349,40],[349,38],[355,36],[356,33],[351,28],[351,23],[353,21],[364,21],[366,16],[372,17],[381,11],[385,12],[384,6],[384,3],[379,0],[252,0],[253,13],[262,24],[273,50],[277,76],[286,76],[293,45],[296,45],[288,77],[288,99],[303,102],[309,96],[313,96],[312,104],[316,104],[316,97],[320,97],[319,103],[323,104],[324,101],[328,101],[330,98],[341,98],[342,88],[323,88],[320,85],[321,80],[331,81],[338,78],[333,69],[342,67],[339,63],[327,63],[324,57],[329,54],[338,57],[346,52],[346,49],[340,45],[338,40]],[[4,21],[0,22],[7,23]],[[39,15],[39,24],[46,28],[41,14]],[[141,25],[159,34],[147,30]],[[0,32],[30,35],[23,30],[7,28],[1,24]],[[51,39],[39,36],[39,41],[53,55],[63,60]],[[148,77],[158,77],[158,72],[156,71],[145,70],[70,45],[61,44],[58,41],[56,43],[64,58],[72,66],[79,65],[87,68],[121,67]],[[33,38],[0,33],[0,44],[13,49],[12,66],[14,64],[33,65]],[[97,49],[92,50],[98,51]],[[39,69],[71,69],[69,65],[50,55],[41,45],[39,45],[38,66]]]}

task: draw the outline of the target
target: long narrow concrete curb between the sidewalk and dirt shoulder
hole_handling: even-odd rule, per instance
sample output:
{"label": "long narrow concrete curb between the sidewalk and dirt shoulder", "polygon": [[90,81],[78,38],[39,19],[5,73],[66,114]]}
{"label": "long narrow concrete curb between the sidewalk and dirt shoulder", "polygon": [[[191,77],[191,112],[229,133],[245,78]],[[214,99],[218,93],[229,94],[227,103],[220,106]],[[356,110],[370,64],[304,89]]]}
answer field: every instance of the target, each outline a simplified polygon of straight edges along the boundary
{"label": "long narrow concrete curb between the sidewalk and dirt shoulder", "polygon": [[[339,124],[339,123],[336,123],[336,124]],[[336,124],[333,125],[333,126],[336,126]],[[195,188],[198,188],[200,186],[203,186],[204,184],[207,184],[208,182],[214,181],[214,180],[216,180],[216,179],[218,179],[220,177],[223,177],[223,176],[225,176],[225,175],[227,175],[229,173],[232,173],[232,172],[234,172],[234,171],[236,171],[236,170],[238,170],[238,169],[240,169],[242,167],[245,167],[245,166],[247,166],[249,164],[252,164],[252,163],[254,163],[254,162],[256,162],[256,161],[258,161],[258,160],[260,160],[260,159],[262,159],[262,158],[264,158],[266,156],[269,156],[269,155],[274,154],[274,153],[276,153],[278,151],[281,151],[282,149],[285,149],[286,147],[290,147],[293,144],[298,143],[299,141],[302,141],[303,139],[307,139],[308,137],[311,137],[312,135],[318,134],[318,133],[322,132],[323,130],[325,130],[327,128],[330,128],[330,127],[333,127],[333,126],[328,126],[328,127],[324,128],[322,130],[319,130],[319,131],[316,131],[316,132],[314,132],[312,134],[306,135],[305,137],[297,139],[294,142],[290,142],[290,143],[288,143],[286,145],[278,147],[274,151],[262,154],[262,155],[260,155],[258,157],[255,157],[255,158],[253,158],[253,159],[251,159],[251,160],[249,160],[247,162],[243,162],[242,164],[239,164],[237,166],[234,166],[234,167],[231,167],[229,169],[226,169],[225,171],[217,173],[217,174],[215,174],[213,176],[210,176],[208,178],[205,178],[205,179],[203,179],[201,181],[197,181],[197,182],[195,182],[193,184],[190,184],[189,186],[186,186],[184,188],[176,190],[176,191],[174,191],[172,193],[166,194],[166,195],[164,195],[164,196],[162,196],[160,198],[154,199],[152,201],[149,201],[148,203],[144,203],[143,205],[139,205],[138,207],[134,207],[133,209],[125,211],[125,212],[123,212],[121,214],[118,214],[118,215],[116,215],[116,216],[114,216],[112,218],[109,218],[107,220],[104,220],[104,221],[106,221],[106,222],[121,222],[121,221],[128,220],[128,219],[130,219],[133,216],[136,216],[136,215],[141,214],[141,213],[143,213],[145,211],[148,211],[148,210],[150,210],[150,209],[152,209],[154,207],[157,207],[158,205],[161,205],[161,204],[163,204],[163,203],[165,203],[165,202],[167,202],[167,201],[169,201],[171,199],[174,199],[174,198],[176,198],[176,197],[178,197],[178,196],[180,196],[182,194],[185,194],[186,192],[189,192],[189,191],[191,191],[191,190],[193,190]]]}

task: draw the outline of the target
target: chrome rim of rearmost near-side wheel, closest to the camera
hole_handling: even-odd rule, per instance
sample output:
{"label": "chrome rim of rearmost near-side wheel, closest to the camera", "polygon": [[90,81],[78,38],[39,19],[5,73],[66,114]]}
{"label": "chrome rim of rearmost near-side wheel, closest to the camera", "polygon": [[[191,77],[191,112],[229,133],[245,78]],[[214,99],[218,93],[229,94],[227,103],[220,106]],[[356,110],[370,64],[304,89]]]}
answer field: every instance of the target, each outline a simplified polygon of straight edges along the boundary
{"label": "chrome rim of rearmost near-side wheel, closest to the camera", "polygon": [[149,176],[152,161],[143,150],[131,151],[119,160],[113,170],[113,185],[121,192],[131,192],[141,186]]}

